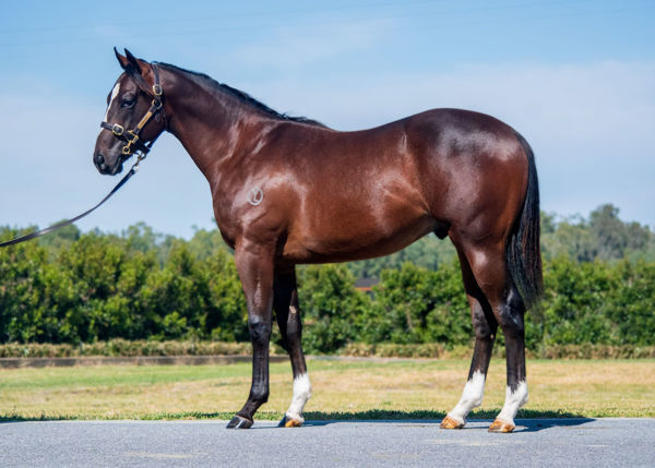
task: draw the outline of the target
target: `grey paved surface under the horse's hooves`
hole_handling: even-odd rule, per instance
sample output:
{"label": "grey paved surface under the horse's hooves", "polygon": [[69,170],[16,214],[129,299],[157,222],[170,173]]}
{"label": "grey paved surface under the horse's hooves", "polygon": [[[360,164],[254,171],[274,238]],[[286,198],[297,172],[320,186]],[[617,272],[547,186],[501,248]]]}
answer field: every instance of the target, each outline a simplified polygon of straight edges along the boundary
{"label": "grey paved surface under the horse's hooves", "polygon": [[519,420],[514,434],[489,422],[7,422],[0,466],[655,466],[655,419]]}

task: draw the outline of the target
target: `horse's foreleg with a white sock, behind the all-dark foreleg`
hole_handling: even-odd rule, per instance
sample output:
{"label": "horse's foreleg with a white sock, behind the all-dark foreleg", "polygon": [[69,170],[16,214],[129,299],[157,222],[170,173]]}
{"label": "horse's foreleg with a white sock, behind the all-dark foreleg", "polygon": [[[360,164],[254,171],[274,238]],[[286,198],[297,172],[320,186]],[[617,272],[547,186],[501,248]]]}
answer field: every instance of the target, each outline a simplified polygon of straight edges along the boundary
{"label": "horse's foreleg with a white sock, behind the all-dark foreleg", "polygon": [[295,428],[305,422],[302,410],[311,397],[311,383],[301,347],[302,323],[298,307],[296,272],[276,273],[273,285],[273,309],[294,374],[294,396],[278,425]]}

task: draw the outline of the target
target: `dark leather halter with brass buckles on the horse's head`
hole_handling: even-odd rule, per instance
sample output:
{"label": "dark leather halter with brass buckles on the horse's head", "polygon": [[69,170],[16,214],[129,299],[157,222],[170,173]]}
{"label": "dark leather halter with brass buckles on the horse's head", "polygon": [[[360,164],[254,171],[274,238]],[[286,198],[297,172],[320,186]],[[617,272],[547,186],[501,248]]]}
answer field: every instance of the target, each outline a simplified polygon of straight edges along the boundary
{"label": "dark leather halter with brass buckles on the horse's head", "polygon": [[144,143],[142,140],[139,139],[139,135],[141,133],[141,130],[143,130],[145,124],[154,116],[157,116],[156,120],[159,121],[158,113],[162,112],[162,116],[164,117],[164,122],[166,127],[168,127],[168,122],[166,121],[166,112],[164,111],[164,106],[162,104],[162,95],[164,94],[164,89],[159,84],[159,69],[155,63],[151,63],[151,67],[155,76],[155,84],[153,84],[152,87],[148,86],[145,80],[143,80],[143,76],[141,76],[141,74],[136,71],[134,67],[128,65],[126,68],[126,73],[132,79],[136,86],[139,86],[139,88],[142,92],[144,92],[153,98],[153,103],[151,104],[150,109],[147,109],[145,116],[143,116],[139,123],[136,123],[136,127],[133,130],[126,131],[126,129],[119,123],[109,123],[106,121],[100,122],[100,127],[103,129],[110,130],[116,137],[127,143],[121,149],[121,153],[126,157],[131,156],[134,151],[139,151],[141,153],[139,159],[143,159],[148,154],[151,146],[153,145],[153,143],[155,143],[155,140],[157,140],[158,135],[155,136],[155,139],[152,140],[150,143]]}

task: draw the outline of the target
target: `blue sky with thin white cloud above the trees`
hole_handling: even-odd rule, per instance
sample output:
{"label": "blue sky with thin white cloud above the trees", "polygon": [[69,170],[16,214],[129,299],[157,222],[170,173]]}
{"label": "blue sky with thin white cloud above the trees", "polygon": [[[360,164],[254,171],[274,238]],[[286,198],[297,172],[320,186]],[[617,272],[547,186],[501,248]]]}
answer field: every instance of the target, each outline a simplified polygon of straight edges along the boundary
{"label": "blue sky with thin white cloud above the trees", "polygon": [[[203,72],[270,107],[358,130],[477,110],[534,148],[541,209],[612,203],[655,227],[655,1],[21,1],[0,16],[0,226],[45,227],[117,182],[92,153],[112,47]],[[163,135],[78,226],[211,229],[210,189]]]}

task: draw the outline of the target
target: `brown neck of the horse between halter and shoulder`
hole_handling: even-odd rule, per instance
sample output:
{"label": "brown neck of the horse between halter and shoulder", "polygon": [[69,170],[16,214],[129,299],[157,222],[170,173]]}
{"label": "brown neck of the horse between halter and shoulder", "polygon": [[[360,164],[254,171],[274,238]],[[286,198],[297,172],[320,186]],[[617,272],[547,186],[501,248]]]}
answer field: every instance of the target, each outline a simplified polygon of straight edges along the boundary
{"label": "brown neck of the horse between halter and shoulder", "polygon": [[[265,120],[235,96],[183,72],[166,70],[163,76],[168,131],[184,146],[195,165],[212,181],[218,166],[234,160],[236,148]],[[166,80],[168,77],[168,80]],[[167,85],[166,81],[169,82]]]}

